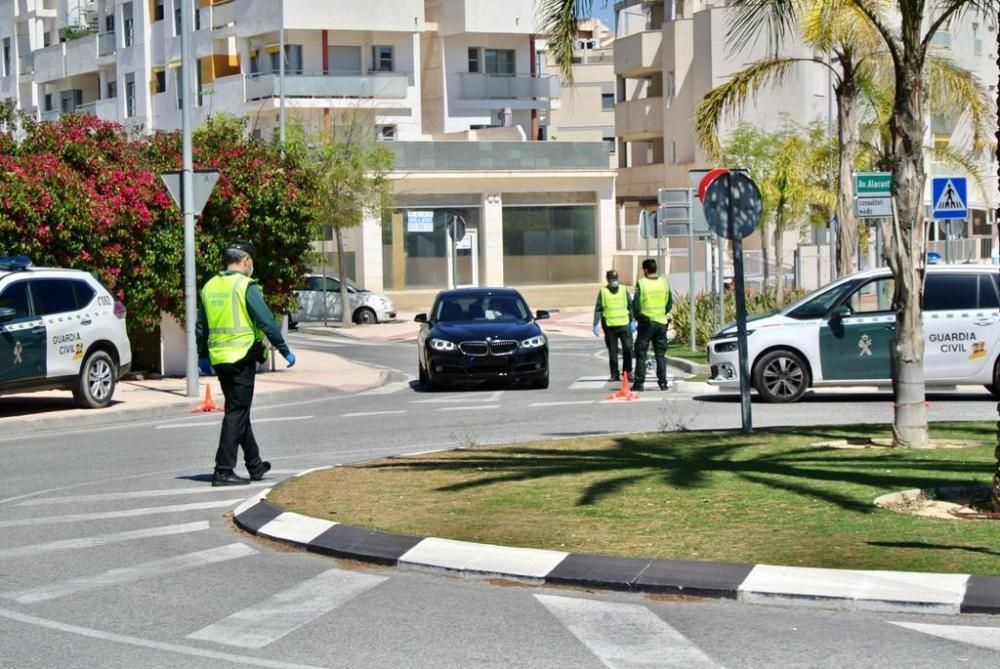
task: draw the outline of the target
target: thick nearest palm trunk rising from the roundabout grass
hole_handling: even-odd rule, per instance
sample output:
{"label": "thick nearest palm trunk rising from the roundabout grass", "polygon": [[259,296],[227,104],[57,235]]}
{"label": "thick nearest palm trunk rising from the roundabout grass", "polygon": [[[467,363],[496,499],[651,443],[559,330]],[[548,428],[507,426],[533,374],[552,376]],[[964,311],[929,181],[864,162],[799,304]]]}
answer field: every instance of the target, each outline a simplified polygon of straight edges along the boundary
{"label": "thick nearest palm trunk rising from the roundabout grass", "polygon": [[895,415],[893,442],[924,447],[928,443],[924,406],[924,332],[920,305],[924,291],[927,236],[923,221],[924,114],[921,64],[906,53],[903,76],[897,75],[890,120],[893,182],[897,216],[893,221],[889,266],[896,279],[896,345],[893,349]]}

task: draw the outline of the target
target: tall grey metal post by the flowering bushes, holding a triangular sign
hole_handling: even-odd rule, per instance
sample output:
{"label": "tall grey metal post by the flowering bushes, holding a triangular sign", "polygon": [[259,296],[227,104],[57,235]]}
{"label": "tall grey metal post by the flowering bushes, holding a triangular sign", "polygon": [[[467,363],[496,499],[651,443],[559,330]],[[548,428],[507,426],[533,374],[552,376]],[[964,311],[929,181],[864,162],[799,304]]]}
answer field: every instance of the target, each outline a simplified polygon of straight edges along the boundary
{"label": "tall grey metal post by the flowering bushes, holding a triangular sign", "polygon": [[191,65],[191,3],[181,2],[181,133],[183,166],[181,172],[181,210],[184,212],[184,330],[187,340],[187,396],[198,396],[198,343],[195,323],[198,320],[198,293],[194,262],[194,158],[191,148],[191,106],[193,66]]}

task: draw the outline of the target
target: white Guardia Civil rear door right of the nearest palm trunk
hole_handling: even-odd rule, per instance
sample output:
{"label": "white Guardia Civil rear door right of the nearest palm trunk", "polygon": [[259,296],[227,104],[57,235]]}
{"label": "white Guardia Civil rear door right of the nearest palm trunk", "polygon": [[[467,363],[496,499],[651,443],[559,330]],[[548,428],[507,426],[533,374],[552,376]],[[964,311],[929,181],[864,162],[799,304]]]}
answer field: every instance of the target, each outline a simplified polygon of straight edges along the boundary
{"label": "white Guardia Civil rear door right of the nearest palm trunk", "polygon": [[[984,373],[1000,338],[996,272],[929,272],[924,283],[924,375],[928,381]],[[992,368],[987,373],[992,378]]]}

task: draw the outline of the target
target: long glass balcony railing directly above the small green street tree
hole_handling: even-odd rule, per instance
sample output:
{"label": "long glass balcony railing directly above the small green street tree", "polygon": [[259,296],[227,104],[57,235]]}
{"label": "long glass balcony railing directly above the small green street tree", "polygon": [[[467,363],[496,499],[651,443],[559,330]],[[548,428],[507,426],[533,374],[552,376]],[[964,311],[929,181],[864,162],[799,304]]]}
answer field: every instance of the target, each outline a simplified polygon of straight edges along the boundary
{"label": "long glass balcony railing directly above the small green street tree", "polygon": [[[405,72],[377,74],[289,74],[285,73],[286,98],[392,98],[406,97],[409,75]],[[247,100],[278,97],[277,74],[247,77]]]}

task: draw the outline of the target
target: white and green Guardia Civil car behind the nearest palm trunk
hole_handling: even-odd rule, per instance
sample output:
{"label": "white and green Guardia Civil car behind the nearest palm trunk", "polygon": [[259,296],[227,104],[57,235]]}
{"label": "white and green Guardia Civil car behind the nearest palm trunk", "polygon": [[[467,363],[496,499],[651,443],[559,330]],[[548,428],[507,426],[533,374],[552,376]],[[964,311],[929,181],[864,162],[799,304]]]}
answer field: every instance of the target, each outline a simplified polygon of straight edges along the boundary
{"label": "white and green Guardia Civil car behind the nearest palm trunk", "polygon": [[[780,312],[749,318],[751,386],[768,402],[795,402],[809,388],[892,382],[893,279],[887,268],[859,272]],[[927,267],[923,304],[928,388],[982,384],[1000,396],[1000,270]],[[708,343],[709,383],[739,390],[736,326]]]}

